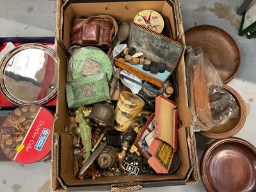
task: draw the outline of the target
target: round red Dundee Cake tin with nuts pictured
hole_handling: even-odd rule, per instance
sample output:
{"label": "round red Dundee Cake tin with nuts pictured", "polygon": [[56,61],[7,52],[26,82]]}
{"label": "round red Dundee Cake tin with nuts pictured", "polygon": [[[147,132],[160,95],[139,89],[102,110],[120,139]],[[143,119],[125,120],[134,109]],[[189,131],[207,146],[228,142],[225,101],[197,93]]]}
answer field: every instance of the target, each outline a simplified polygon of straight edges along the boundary
{"label": "round red Dundee Cake tin with nuts pictured", "polygon": [[54,116],[42,106],[14,109],[4,120],[0,131],[3,153],[18,163],[34,163],[51,152]]}

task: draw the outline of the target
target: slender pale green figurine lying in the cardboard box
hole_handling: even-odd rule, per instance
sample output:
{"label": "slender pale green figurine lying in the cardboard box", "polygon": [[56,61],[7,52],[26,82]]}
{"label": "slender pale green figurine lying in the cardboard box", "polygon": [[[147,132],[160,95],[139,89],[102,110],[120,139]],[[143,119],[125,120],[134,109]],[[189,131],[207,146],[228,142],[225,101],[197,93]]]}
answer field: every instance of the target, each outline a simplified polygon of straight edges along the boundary
{"label": "slender pale green figurine lying in the cardboard box", "polygon": [[79,123],[79,128],[81,132],[81,138],[82,138],[82,143],[84,145],[84,160],[83,164],[85,161],[90,157],[91,153],[90,151],[92,150],[92,125],[89,124],[90,119],[89,118],[84,118],[83,111],[77,110],[76,111],[77,117],[81,120]]}

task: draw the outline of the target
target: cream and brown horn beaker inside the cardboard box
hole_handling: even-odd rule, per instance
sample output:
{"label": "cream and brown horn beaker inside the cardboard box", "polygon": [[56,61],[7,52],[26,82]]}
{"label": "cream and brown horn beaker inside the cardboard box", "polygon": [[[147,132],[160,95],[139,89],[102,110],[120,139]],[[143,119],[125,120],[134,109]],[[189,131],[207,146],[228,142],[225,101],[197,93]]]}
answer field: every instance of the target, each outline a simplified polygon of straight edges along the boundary
{"label": "cream and brown horn beaker inside the cardboard box", "polygon": [[141,112],[145,102],[131,92],[121,92],[116,104],[115,129],[125,132],[136,116]]}

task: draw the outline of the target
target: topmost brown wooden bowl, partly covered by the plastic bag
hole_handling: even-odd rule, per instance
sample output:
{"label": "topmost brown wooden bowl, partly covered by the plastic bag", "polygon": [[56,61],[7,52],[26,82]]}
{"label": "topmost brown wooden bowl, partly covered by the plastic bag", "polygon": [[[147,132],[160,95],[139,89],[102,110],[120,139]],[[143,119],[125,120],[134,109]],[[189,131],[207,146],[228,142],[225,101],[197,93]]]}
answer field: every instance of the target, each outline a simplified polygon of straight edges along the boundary
{"label": "topmost brown wooden bowl, partly covered by the plastic bag", "polygon": [[216,26],[200,25],[185,32],[186,45],[201,47],[218,70],[224,84],[229,83],[240,67],[240,51],[236,41]]}

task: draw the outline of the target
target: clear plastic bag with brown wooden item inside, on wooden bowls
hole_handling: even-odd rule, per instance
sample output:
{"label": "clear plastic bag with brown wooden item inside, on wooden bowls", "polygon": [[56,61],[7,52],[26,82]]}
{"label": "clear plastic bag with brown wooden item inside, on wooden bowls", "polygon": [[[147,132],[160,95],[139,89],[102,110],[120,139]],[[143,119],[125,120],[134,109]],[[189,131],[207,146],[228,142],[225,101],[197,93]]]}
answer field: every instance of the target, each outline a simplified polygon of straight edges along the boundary
{"label": "clear plastic bag with brown wooden item inside, on wooden bowls", "polygon": [[189,49],[186,79],[194,131],[209,131],[238,115],[234,97],[200,47]]}

